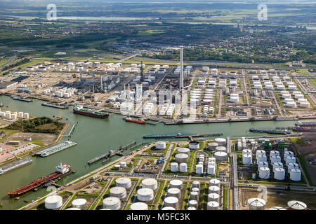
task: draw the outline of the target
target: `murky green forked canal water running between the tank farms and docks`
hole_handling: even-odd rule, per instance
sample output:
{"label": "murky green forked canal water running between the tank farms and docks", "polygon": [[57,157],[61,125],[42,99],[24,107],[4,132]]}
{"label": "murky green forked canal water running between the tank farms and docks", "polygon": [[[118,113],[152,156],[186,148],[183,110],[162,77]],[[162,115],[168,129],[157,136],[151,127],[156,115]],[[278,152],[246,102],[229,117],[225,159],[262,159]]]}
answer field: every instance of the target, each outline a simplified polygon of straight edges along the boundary
{"label": "murky green forked canal water running between the tank farms and docks", "polygon": [[[62,121],[70,123],[66,134],[70,131],[73,124],[78,124],[74,129],[72,137],[63,137],[62,141],[77,142],[77,146],[67,148],[64,151],[49,155],[46,158],[33,157],[33,162],[25,167],[20,167],[0,175],[0,203],[3,204],[0,209],[17,209],[25,204],[25,201],[31,201],[47,193],[47,188],[41,188],[36,192],[22,195],[20,200],[11,200],[8,198],[8,191],[23,186],[30,181],[46,176],[55,172],[56,165],[65,162],[72,166],[75,174],[65,176],[60,183],[65,184],[88,172],[97,169],[102,165],[101,161],[88,166],[86,162],[98,155],[103,155],[110,150],[117,150],[119,146],[126,146],[132,141],[140,143],[150,141],[143,139],[147,134],[171,134],[182,132],[185,134],[211,134],[223,133],[223,137],[251,137],[261,136],[260,133],[248,132],[250,127],[272,128],[277,126],[288,127],[294,125],[295,121],[261,121],[261,122],[239,122],[239,123],[214,123],[197,125],[138,125],[135,123],[126,123],[122,116],[110,115],[109,119],[90,118],[72,113],[72,109],[54,109],[47,106],[41,106],[42,101],[19,102],[10,97],[1,96],[0,102],[4,103],[2,110],[28,112],[32,116],[62,117]],[[6,107],[8,106],[8,108]],[[268,134],[264,134],[268,135]],[[111,158],[109,160],[116,160]]]}

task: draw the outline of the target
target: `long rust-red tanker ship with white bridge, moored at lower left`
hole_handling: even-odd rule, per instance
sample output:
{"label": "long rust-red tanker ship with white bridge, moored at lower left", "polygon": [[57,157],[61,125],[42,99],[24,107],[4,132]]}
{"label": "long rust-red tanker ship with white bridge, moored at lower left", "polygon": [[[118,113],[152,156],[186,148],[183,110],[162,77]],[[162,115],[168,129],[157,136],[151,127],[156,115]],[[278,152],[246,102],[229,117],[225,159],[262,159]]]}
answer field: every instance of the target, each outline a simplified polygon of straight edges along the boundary
{"label": "long rust-red tanker ship with white bridge, moored at lower left", "polygon": [[71,171],[72,171],[72,167],[70,167],[70,165],[60,164],[56,167],[55,172],[48,174],[47,176],[41,177],[37,180],[34,180],[31,183],[29,183],[25,186],[22,186],[16,190],[11,190],[8,192],[8,195],[10,197],[19,197],[19,196],[29,192],[30,190],[41,188],[46,183],[49,183],[50,181],[58,179],[58,178],[65,176],[67,174],[70,174]]}

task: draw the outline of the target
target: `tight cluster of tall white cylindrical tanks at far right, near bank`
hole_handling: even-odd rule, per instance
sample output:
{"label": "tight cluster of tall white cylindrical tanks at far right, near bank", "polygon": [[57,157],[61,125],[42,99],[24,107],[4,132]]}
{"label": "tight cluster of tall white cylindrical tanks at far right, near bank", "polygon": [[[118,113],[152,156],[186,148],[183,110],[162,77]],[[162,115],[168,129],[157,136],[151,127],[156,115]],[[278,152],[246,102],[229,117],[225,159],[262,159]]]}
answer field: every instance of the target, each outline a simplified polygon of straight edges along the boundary
{"label": "tight cluster of tall white cylindrical tanks at far right, near bank", "polygon": [[[247,149],[247,141],[250,142],[252,150]],[[263,141],[265,144],[270,143],[267,139],[263,139]],[[279,151],[273,150],[268,152],[270,154],[268,159],[266,151],[260,149],[256,150],[257,148],[258,142],[254,139],[246,139],[243,137],[242,139],[237,140],[237,150],[242,149],[243,165],[253,165],[252,152],[256,151],[256,165],[258,165],[260,179],[269,179],[272,169],[274,179],[282,181],[285,179],[287,169],[291,181],[301,181],[301,169],[299,169],[298,164],[296,163],[296,158],[294,157],[293,152],[284,148],[283,155],[281,155]]]}

